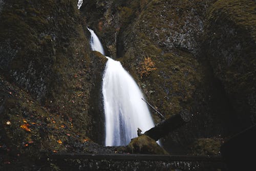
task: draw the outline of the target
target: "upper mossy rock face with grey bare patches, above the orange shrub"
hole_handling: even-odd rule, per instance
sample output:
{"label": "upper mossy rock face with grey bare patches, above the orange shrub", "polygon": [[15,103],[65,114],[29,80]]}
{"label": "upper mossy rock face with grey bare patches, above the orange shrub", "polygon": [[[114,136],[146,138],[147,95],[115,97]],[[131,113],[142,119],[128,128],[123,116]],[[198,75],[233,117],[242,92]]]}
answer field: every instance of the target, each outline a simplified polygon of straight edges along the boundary
{"label": "upper mossy rock face with grey bare patches, above the orange shrub", "polygon": [[164,52],[178,48],[197,54],[201,46],[205,13],[213,2],[197,0],[148,2],[133,27],[128,27],[121,35],[125,41],[123,53],[131,47],[132,40],[144,36],[143,38],[158,45]]}

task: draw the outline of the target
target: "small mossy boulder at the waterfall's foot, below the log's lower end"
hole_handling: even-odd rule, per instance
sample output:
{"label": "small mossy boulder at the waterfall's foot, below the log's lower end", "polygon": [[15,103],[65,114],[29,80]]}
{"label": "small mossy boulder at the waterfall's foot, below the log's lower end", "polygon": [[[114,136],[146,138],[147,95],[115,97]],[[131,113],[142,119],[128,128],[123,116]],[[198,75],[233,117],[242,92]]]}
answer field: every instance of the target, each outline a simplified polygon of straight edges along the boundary
{"label": "small mossy boulder at the waterfall's foot, below the log's lower end", "polygon": [[130,153],[168,155],[152,138],[142,135],[131,140],[127,146]]}

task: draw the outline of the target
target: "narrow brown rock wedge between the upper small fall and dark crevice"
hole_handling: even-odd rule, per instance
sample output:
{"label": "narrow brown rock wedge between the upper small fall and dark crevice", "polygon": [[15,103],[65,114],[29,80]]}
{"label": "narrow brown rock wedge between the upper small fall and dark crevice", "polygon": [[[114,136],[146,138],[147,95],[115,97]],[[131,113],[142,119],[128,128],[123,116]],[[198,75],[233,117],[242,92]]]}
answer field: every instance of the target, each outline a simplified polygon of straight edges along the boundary
{"label": "narrow brown rock wedge between the upper small fall and dark crevice", "polygon": [[86,20],[88,27],[100,37],[106,55],[112,57],[116,57],[116,38],[120,29],[118,7],[126,4],[118,2],[89,0],[81,6],[83,19]]}

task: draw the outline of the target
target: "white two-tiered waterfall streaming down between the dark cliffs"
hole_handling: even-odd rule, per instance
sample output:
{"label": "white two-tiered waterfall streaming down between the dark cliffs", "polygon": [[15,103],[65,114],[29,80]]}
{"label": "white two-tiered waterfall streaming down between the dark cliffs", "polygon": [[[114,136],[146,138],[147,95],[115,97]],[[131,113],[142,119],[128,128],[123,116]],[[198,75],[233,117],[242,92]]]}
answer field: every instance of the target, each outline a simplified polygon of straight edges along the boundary
{"label": "white two-tiered waterfall streaming down between the dark cliffs", "polygon": [[[104,54],[100,41],[93,30],[92,50]],[[141,98],[137,83],[125,71],[119,61],[110,57],[103,76],[102,93],[105,112],[105,145],[127,145],[137,137],[137,128],[147,131],[154,126],[147,105]]]}

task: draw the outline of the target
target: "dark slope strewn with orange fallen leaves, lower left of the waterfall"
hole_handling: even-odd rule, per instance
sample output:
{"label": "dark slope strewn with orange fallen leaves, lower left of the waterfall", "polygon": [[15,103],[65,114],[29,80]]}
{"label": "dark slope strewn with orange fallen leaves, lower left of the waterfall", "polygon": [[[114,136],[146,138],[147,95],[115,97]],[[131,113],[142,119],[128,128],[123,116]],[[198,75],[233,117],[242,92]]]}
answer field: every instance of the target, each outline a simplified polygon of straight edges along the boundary
{"label": "dark slope strewn with orange fallen leaves, lower left of the waterfall", "polygon": [[[1,78],[0,97],[4,100],[2,108],[4,113],[1,116],[2,135],[4,142],[9,148],[9,153],[15,155],[30,156],[31,162],[40,157],[38,148],[47,151],[63,150],[63,146],[57,143],[59,138],[65,141],[63,133],[71,133],[71,125],[64,121],[61,116],[51,115],[45,108],[42,108],[38,102],[33,100],[25,91],[18,89]],[[7,90],[8,87],[8,90]],[[10,125],[6,122],[9,121]],[[28,124],[31,131],[25,131],[20,126]],[[62,130],[62,135],[58,129],[61,125],[66,125],[66,130]],[[58,133],[58,135],[56,134]],[[67,139],[67,135],[66,135]]]}

